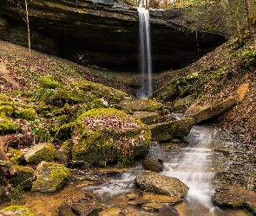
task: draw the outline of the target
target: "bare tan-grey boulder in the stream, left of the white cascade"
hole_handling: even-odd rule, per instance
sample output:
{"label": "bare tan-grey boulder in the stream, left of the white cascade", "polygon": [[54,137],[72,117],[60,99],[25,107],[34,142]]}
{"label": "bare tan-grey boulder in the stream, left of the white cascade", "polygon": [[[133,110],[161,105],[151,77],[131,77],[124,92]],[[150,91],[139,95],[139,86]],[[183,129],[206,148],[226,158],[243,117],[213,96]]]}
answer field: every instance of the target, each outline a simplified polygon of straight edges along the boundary
{"label": "bare tan-grey boulder in the stream, left of the white cascade", "polygon": [[189,189],[179,179],[164,175],[141,175],[135,181],[143,190],[180,198],[185,197]]}

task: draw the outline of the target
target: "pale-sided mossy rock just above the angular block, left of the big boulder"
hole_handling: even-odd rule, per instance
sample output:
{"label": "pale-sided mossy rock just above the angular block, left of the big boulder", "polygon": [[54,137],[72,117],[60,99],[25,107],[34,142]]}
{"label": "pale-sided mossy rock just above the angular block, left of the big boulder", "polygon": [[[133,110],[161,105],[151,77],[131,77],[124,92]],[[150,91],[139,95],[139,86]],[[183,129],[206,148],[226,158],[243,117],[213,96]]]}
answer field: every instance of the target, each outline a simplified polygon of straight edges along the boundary
{"label": "pale-sided mossy rock just above the angular block, left of the big boulder", "polygon": [[42,161],[52,162],[56,154],[56,149],[51,143],[40,143],[34,145],[26,154],[24,158],[30,164],[38,164]]}

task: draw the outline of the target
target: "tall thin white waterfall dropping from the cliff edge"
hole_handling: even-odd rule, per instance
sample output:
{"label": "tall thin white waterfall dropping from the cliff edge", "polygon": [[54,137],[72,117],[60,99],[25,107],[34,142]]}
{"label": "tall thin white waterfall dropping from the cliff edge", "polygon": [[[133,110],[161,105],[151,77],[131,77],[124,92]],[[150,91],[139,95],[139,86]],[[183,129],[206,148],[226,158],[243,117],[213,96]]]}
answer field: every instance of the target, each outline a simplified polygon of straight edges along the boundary
{"label": "tall thin white waterfall dropping from the cliff edge", "polygon": [[140,22],[140,69],[141,89],[137,92],[137,98],[148,98],[152,94],[152,60],[150,23],[148,10],[138,8]]}

